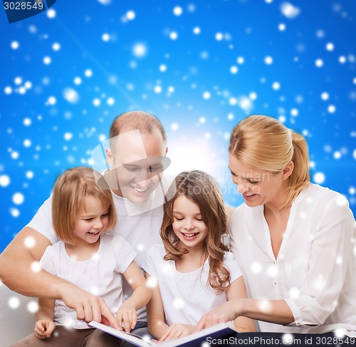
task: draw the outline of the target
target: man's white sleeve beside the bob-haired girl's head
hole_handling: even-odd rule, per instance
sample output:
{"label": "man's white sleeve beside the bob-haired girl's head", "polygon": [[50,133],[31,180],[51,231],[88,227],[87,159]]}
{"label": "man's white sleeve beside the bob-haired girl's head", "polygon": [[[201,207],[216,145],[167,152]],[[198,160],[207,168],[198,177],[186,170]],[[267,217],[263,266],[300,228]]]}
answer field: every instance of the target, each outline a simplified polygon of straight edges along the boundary
{"label": "man's white sleeve beside the bob-haired girl's head", "polygon": [[43,202],[42,206],[38,209],[37,213],[33,216],[31,222],[29,222],[26,227],[35,229],[44,237],[55,244],[58,242],[58,237],[53,229],[52,224],[52,195]]}

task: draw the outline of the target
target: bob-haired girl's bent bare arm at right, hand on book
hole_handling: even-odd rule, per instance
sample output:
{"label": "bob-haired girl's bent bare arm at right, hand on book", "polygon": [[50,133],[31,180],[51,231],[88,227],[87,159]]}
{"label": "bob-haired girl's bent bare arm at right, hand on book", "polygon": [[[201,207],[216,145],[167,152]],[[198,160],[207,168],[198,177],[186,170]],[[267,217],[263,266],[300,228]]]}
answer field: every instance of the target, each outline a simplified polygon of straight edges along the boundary
{"label": "bob-haired girl's bent bare arm at right, hand on book", "polygon": [[119,329],[123,322],[125,324],[125,331],[130,333],[130,330],[135,328],[137,322],[136,311],[142,309],[142,307],[150,301],[152,289],[147,286],[145,277],[142,275],[135,261],[131,262],[123,275],[128,284],[130,284],[133,293],[130,298],[120,306],[117,311],[116,320],[119,323]]}

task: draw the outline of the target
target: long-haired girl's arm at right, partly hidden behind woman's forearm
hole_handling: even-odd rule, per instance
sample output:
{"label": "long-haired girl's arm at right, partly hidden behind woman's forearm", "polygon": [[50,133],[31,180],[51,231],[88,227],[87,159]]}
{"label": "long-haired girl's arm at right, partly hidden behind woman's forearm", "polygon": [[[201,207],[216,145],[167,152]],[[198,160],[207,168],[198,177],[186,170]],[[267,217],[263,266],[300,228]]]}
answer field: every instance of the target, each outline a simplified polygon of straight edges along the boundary
{"label": "long-haired girl's arm at right, partly hidden behind woman's forearm", "polygon": [[[232,282],[229,288],[226,291],[227,299],[234,300],[234,299],[246,299],[246,286],[244,283],[244,279],[240,276],[234,282]],[[234,325],[239,333],[256,331],[256,326],[253,319],[246,318],[244,316],[239,316],[234,320]]]}

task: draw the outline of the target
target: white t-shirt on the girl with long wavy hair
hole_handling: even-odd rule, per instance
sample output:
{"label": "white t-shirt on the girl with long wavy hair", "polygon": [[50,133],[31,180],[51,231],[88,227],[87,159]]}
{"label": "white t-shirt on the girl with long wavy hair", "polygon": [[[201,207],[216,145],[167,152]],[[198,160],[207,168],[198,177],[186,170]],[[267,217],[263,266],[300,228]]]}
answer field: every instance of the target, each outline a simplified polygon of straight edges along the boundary
{"label": "white t-shirt on the girl with long wavy hair", "polygon": [[[156,244],[147,254],[143,269],[157,280],[162,297],[167,324],[198,323],[203,314],[227,301],[226,292],[216,294],[208,286],[209,258],[201,268],[182,274],[175,261],[163,259],[166,251],[163,244]],[[224,264],[230,270],[231,283],[241,276],[233,254],[226,252]]]}

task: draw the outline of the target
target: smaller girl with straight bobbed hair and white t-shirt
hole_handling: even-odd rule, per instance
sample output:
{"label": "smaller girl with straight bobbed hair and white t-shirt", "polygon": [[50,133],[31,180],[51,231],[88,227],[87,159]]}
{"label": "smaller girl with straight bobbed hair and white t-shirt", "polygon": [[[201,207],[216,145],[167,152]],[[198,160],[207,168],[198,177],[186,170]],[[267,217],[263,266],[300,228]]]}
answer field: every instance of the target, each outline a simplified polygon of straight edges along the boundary
{"label": "smaller girl with straight bobbed hair and white t-shirt", "polygon": [[[40,260],[43,269],[94,292],[116,314],[115,327],[130,331],[136,311],[147,304],[152,291],[135,263],[135,252],[122,237],[107,234],[115,227],[116,212],[107,182],[89,167],[63,173],[53,189],[53,227],[60,239],[48,246]],[[122,276],[133,293],[122,294]],[[34,333],[14,347],[118,346],[117,338],[96,331],[62,300],[38,299]]]}

